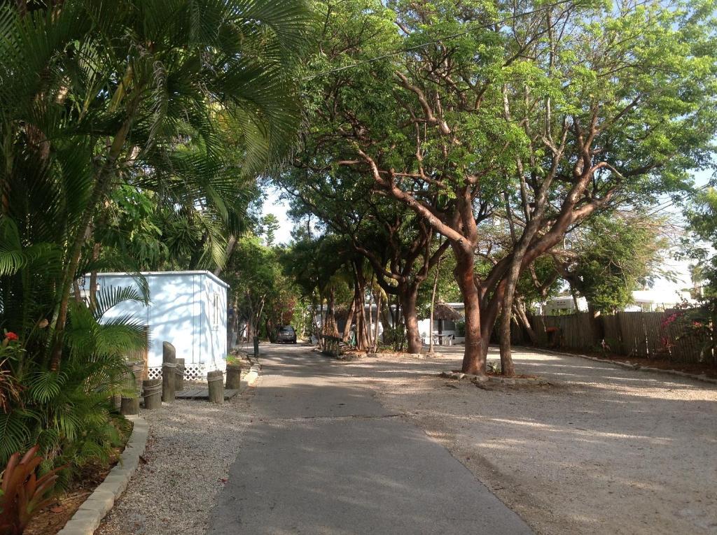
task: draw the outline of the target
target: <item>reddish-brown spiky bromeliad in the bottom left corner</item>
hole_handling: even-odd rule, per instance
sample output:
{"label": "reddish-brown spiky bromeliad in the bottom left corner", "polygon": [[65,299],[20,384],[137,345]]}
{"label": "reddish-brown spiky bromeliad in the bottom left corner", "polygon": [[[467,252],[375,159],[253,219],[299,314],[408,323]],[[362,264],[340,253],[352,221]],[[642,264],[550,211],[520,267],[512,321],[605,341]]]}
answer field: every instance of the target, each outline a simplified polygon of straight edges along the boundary
{"label": "reddish-brown spiky bromeliad in the bottom left corner", "polygon": [[30,519],[52,503],[47,495],[57,480],[62,466],[37,477],[42,456],[37,455],[39,445],[27,450],[22,459],[14,453],[2,473],[0,486],[0,535],[20,535]]}

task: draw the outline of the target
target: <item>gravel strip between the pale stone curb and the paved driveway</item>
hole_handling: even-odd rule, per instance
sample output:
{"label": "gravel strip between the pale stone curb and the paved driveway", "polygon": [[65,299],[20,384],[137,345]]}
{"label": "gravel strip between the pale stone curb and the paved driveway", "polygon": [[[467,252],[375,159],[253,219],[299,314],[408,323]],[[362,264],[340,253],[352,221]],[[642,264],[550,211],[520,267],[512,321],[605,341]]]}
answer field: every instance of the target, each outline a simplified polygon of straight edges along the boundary
{"label": "gravel strip between the pale stone curb and the paved driveway", "polygon": [[251,397],[237,396],[224,405],[177,400],[142,410],[150,431],[146,463],[95,534],[205,534],[209,511],[252,420]]}

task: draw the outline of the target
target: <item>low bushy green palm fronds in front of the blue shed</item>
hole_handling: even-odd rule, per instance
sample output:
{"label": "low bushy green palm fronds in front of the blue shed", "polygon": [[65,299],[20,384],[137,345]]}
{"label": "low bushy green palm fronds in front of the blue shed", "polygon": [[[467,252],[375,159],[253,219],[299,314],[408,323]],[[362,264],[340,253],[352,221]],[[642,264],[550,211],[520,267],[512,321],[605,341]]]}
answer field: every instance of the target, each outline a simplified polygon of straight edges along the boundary
{"label": "low bushy green palm fronds in front of the blue shed", "polygon": [[[97,317],[100,312],[95,311]],[[128,423],[111,397],[134,392],[128,390],[125,355],[146,347],[146,334],[136,320],[100,324],[95,314],[85,304],[72,304],[67,357],[60,372],[47,370],[46,363],[27,350],[26,339],[0,348],[2,371],[19,390],[9,410],[0,415],[0,462],[38,443],[49,462],[76,467],[106,460],[110,449],[120,444]],[[47,339],[46,331],[35,336]]]}

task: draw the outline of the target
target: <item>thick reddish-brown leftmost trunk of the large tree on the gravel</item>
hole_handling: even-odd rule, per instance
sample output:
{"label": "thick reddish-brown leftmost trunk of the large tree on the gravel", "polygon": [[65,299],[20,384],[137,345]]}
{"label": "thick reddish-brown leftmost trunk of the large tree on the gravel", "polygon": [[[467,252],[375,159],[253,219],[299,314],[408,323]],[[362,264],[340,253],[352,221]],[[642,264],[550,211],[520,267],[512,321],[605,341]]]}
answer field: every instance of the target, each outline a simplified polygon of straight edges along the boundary
{"label": "thick reddish-brown leftmost trunk of the large tree on the gravel", "polygon": [[485,375],[485,358],[488,355],[488,337],[481,336],[480,296],[475,286],[473,251],[465,251],[460,244],[452,244],[456,257],[455,280],[465,306],[465,353],[463,373]]}

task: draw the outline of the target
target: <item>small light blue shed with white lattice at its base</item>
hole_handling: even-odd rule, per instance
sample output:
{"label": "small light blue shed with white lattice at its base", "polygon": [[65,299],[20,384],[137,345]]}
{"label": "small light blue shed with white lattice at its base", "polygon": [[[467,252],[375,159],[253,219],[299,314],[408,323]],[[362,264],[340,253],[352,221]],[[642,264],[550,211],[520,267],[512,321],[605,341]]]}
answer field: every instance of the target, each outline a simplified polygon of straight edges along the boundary
{"label": "small light blue shed with white lattice at its base", "polygon": [[[176,356],[184,358],[185,377],[226,370],[229,285],[209,271],[151,271],[142,275],[149,286],[150,304],[123,302],[110,309],[105,319],[132,314],[149,327],[148,377],[161,374],[162,342],[170,342]],[[85,286],[89,280],[85,277]],[[98,289],[110,286],[138,288],[131,274],[98,274]]]}

